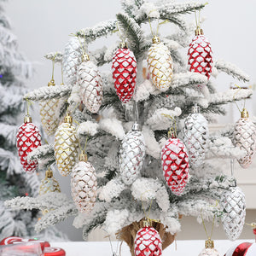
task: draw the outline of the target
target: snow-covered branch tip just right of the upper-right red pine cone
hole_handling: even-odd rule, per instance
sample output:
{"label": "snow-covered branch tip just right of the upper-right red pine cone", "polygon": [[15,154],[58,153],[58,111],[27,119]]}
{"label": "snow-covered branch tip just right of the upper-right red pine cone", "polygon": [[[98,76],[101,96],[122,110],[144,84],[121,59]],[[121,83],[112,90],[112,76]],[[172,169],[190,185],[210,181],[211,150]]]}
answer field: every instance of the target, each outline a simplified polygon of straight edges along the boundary
{"label": "snow-covered branch tip just right of the upper-right red pine cone", "polygon": [[227,73],[231,75],[233,78],[242,80],[243,82],[248,82],[250,80],[247,73],[244,73],[239,67],[236,67],[236,65],[230,62],[218,60],[215,61],[214,67],[216,67],[218,71]]}

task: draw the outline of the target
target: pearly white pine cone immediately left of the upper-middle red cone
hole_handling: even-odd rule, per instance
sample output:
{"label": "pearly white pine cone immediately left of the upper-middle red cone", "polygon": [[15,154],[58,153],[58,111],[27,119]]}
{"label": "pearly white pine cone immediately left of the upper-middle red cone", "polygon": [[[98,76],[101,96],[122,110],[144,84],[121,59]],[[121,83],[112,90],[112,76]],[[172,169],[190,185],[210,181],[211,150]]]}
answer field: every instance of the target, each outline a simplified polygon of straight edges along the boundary
{"label": "pearly white pine cone immediately left of the upper-middle red cone", "polygon": [[91,113],[97,113],[102,105],[102,78],[88,55],[83,55],[78,73],[81,99]]}

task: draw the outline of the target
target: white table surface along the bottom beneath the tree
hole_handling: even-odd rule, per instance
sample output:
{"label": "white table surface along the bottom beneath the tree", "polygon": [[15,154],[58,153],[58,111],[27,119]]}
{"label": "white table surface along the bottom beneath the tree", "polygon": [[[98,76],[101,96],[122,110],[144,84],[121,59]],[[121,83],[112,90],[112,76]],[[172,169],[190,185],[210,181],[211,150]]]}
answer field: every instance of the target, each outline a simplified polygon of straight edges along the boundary
{"label": "white table surface along the bottom beneath the tree", "polygon": [[[216,240],[214,247],[222,256],[227,250],[243,241],[254,242],[254,240]],[[108,241],[69,241],[69,242],[50,242],[52,247],[61,247],[66,251],[66,256],[113,256],[111,245]],[[117,241],[112,242],[113,251],[119,256],[131,256],[129,247],[123,242],[121,255],[119,254],[119,245]],[[203,240],[179,240],[177,248],[175,242],[163,251],[163,256],[198,256],[205,246]]]}

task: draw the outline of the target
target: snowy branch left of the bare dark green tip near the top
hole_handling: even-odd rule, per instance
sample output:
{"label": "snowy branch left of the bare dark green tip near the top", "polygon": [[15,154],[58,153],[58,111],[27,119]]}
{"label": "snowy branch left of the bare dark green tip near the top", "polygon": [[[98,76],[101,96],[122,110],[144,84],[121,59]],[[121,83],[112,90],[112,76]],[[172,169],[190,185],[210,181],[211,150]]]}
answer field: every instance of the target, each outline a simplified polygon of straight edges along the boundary
{"label": "snowy branch left of the bare dark green tip near the top", "polygon": [[79,30],[77,36],[85,38],[87,43],[90,43],[96,38],[106,37],[117,29],[116,20],[107,20],[100,22],[96,26],[87,27]]}

